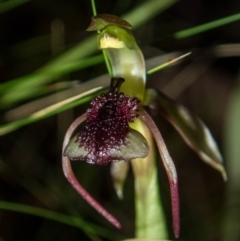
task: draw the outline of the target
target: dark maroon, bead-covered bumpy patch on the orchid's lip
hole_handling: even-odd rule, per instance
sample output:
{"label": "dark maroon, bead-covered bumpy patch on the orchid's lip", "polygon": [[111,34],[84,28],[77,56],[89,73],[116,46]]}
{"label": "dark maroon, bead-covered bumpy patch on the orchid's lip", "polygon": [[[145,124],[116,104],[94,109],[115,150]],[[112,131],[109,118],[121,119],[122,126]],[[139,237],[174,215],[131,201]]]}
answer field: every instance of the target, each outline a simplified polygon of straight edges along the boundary
{"label": "dark maroon, bead-covered bumpy patch on the orchid's lip", "polygon": [[[108,93],[91,102],[87,111],[87,125],[77,135],[79,146],[88,151],[88,161],[105,164],[111,161],[110,151],[124,145],[128,123],[137,114],[138,100],[123,93]],[[115,159],[115,158],[113,158]]]}

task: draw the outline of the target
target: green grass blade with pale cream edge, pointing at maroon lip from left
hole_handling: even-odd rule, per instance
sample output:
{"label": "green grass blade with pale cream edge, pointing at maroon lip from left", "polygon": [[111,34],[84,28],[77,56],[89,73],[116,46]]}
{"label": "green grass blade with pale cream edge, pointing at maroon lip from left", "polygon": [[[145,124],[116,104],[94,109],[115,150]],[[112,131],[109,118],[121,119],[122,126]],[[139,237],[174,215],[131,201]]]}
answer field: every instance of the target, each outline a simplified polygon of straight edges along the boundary
{"label": "green grass blade with pale cream edge, pointing at maroon lip from left", "polygon": [[27,118],[23,118],[23,119],[2,125],[2,126],[0,126],[0,136],[5,135],[11,131],[14,131],[22,126],[31,124],[33,122],[42,120],[49,116],[58,114],[67,109],[73,108],[73,107],[81,105],[83,103],[86,103],[87,101],[90,101],[92,98],[94,98],[96,95],[98,95],[100,93],[100,91],[103,91],[103,87],[93,88],[82,94],[79,94],[79,95],[71,97],[67,100],[58,102],[54,105],[44,108],[43,110],[33,113],[32,115],[30,115]]}

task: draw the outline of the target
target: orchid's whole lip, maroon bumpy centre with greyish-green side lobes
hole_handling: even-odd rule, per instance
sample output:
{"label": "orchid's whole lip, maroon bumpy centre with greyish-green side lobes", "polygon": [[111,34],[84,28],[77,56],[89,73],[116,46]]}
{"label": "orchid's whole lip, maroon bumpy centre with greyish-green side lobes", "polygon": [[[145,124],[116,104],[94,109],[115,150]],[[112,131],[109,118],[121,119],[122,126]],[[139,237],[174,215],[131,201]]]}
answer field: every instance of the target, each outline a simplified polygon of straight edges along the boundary
{"label": "orchid's whole lip, maroon bumpy centre with greyish-green side lobes", "polygon": [[139,101],[118,93],[122,80],[113,78],[109,93],[92,100],[84,129],[64,150],[70,160],[106,165],[111,161],[130,161],[148,155],[146,139],[129,127],[138,117]]}

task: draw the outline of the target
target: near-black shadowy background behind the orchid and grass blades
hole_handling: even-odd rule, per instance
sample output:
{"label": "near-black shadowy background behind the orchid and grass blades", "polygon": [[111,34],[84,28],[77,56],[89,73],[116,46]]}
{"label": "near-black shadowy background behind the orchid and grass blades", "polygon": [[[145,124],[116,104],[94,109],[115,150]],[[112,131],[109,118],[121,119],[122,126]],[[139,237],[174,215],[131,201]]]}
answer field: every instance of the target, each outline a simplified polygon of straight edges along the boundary
{"label": "near-black shadowy background behind the orchid and grass blades", "polygon": [[[5,1],[1,1],[5,2]],[[99,13],[122,15],[144,1],[96,1]],[[239,13],[240,2],[182,0],[155,18],[134,30],[134,34],[147,59],[168,53],[193,51],[184,63],[165,69],[149,77],[148,85],[186,105],[209,126],[226,159],[223,129],[229,98],[237,84],[239,56],[219,57],[212,49],[221,44],[240,42],[240,22],[232,23],[183,40],[172,39],[172,34],[202,23]],[[0,81],[6,82],[38,69],[56,55],[51,49],[51,24],[61,20],[64,24],[64,49],[67,51],[94,33],[85,31],[90,23],[92,9],[89,0],[35,0],[0,15]],[[139,16],[141,18],[141,16]],[[194,63],[194,65],[192,64]],[[201,72],[202,66],[207,66]],[[185,72],[183,72],[185,71]],[[61,80],[87,81],[106,72],[105,65],[75,71]],[[180,73],[183,74],[181,76]],[[191,79],[191,84],[174,89],[167,88],[173,78]],[[59,80],[56,80],[56,83]],[[174,87],[181,87],[177,82]],[[31,100],[30,100],[31,101]],[[94,197],[123,222],[123,230],[116,231],[80,198],[65,180],[61,170],[61,143],[64,132],[72,120],[86,106],[66,111],[58,116],[20,128],[0,139],[0,200],[27,204],[65,213],[81,215],[120,236],[134,235],[133,176],[130,173],[125,186],[125,199],[119,201],[112,187],[109,167],[74,163],[79,179]],[[4,110],[1,121],[5,123]],[[63,122],[62,119],[65,118]],[[180,180],[181,238],[182,240],[227,239],[228,184],[220,174],[201,162],[182,141],[177,132],[164,120],[156,120],[163,133]],[[227,165],[228,160],[226,160]],[[169,191],[166,176],[159,165],[159,182],[166,205],[169,232],[173,238],[170,220]],[[239,209],[237,209],[239,210]],[[239,212],[240,213],[240,212]],[[236,223],[235,223],[236,224]],[[239,223],[240,227],[240,223]],[[232,231],[235,232],[235,231]],[[232,233],[230,232],[230,233]],[[239,237],[236,234],[234,237]],[[99,239],[95,240],[101,240]],[[0,240],[90,240],[84,232],[69,225],[34,215],[0,210]],[[102,237],[102,240],[108,240]]]}

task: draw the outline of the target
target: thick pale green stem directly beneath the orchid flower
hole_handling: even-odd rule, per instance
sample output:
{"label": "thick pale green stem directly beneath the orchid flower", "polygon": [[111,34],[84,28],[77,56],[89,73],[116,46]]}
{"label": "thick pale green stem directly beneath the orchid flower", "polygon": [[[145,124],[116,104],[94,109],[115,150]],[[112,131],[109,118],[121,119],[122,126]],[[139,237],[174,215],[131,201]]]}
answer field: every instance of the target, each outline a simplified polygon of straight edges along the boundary
{"label": "thick pale green stem directly beneath the orchid flower", "polygon": [[159,195],[153,139],[141,121],[135,121],[132,127],[145,136],[150,147],[146,158],[131,161],[135,180],[135,237],[166,239],[168,234]]}

